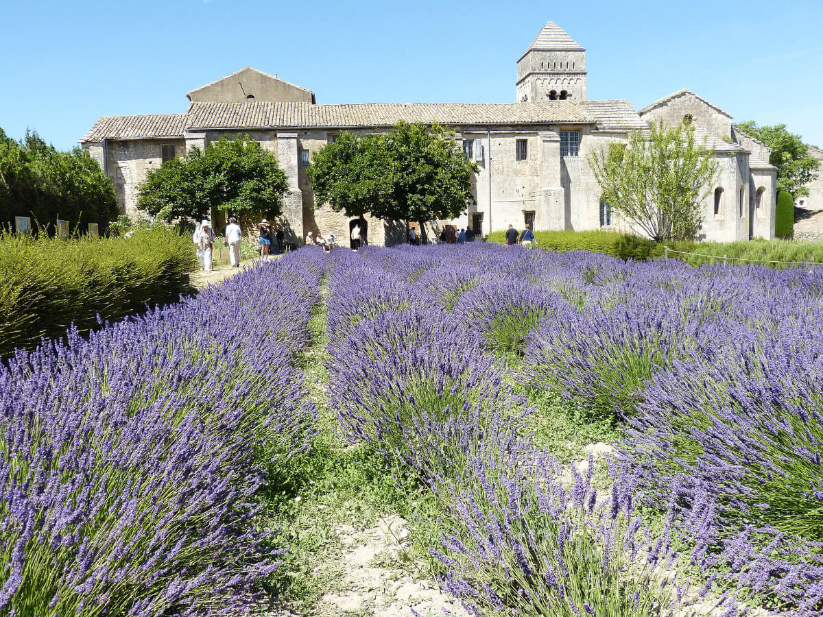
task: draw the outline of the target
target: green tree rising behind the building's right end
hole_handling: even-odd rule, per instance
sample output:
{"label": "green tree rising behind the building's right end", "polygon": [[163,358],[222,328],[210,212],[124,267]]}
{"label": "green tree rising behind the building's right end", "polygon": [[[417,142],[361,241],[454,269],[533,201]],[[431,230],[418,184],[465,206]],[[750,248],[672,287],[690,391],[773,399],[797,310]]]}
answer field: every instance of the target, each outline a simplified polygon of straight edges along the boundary
{"label": "green tree rising behind the building's right end", "polygon": [[778,169],[778,191],[788,191],[795,197],[809,194],[809,189],[803,185],[815,178],[820,161],[808,154],[799,135],[788,132],[785,124],[758,127],[754,120],[736,124],[735,128],[769,146],[769,162]]}

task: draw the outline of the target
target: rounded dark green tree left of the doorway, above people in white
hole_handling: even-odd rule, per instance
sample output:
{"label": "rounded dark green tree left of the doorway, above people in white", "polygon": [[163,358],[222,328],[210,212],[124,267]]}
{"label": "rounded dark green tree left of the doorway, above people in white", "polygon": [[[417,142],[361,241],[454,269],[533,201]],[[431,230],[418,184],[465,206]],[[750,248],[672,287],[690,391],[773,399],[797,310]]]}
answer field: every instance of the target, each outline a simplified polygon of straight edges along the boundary
{"label": "rounded dark green tree left of the doorway, above people in white", "polygon": [[149,172],[137,189],[137,207],[166,220],[200,220],[216,210],[246,221],[274,218],[288,188],[277,157],[258,141],[221,137]]}

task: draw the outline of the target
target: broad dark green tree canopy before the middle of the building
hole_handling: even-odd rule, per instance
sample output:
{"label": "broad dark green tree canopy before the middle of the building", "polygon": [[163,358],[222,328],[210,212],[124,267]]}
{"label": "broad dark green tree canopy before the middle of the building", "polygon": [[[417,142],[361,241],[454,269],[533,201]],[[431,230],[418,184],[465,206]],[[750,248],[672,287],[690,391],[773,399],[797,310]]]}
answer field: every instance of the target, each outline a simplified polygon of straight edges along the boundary
{"label": "broad dark green tree canopy before the middle of the building", "polygon": [[314,155],[307,173],[316,206],[383,220],[451,219],[475,203],[477,164],[453,132],[398,123],[370,135],[342,133]]}

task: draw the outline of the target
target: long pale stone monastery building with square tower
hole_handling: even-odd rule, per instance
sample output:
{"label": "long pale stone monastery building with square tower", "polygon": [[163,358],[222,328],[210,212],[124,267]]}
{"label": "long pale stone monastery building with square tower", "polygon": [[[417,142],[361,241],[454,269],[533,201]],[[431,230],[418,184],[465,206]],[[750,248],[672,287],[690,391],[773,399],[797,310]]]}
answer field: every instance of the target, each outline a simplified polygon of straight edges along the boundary
{"label": "long pale stone monastery building with square tower", "polygon": [[[452,128],[477,161],[477,205],[458,227],[477,233],[509,224],[535,230],[625,229],[601,199],[589,151],[663,120],[695,124],[719,173],[704,203],[702,235],[731,241],[774,237],[777,169],[769,149],[732,127],[732,116],[689,90],[635,111],[627,100],[588,100],[586,50],[551,21],[517,62],[517,102],[509,104],[316,104],[314,92],[246,67],[188,93],[185,114],[105,116],[81,139],[114,182],[122,210],[137,216],[137,185],[149,169],[192,146],[238,133],[277,153],[289,179],[282,223],[291,242],[306,232],[347,238],[354,221],[315,208],[305,168],[342,131],[438,122]],[[221,221],[215,221],[220,228]],[[367,220],[370,244],[398,244],[405,225]],[[434,230],[435,233],[437,230]]]}

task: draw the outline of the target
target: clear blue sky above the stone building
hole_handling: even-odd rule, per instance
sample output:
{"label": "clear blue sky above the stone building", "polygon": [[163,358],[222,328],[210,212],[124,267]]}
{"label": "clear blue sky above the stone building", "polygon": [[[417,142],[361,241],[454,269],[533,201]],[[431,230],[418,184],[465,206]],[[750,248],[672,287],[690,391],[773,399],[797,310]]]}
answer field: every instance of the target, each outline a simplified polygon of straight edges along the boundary
{"label": "clear blue sky above the stone building", "polygon": [[513,102],[546,21],[587,49],[590,99],[689,88],[823,146],[823,1],[0,2],[0,127],[74,145],[101,115],[181,113],[245,66],[318,103]]}

